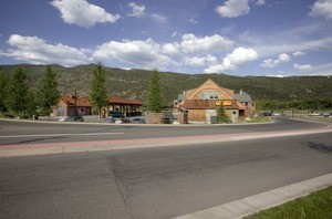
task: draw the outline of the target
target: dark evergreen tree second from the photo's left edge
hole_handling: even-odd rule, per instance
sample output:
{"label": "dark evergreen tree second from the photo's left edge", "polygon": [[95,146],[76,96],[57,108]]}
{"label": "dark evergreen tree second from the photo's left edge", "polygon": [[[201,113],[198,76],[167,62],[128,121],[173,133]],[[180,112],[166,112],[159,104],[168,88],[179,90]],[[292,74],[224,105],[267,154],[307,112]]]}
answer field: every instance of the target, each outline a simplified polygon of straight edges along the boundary
{"label": "dark evergreen tree second from the photo's left edge", "polygon": [[7,106],[10,111],[21,116],[27,105],[27,75],[21,67],[15,69],[8,84]]}

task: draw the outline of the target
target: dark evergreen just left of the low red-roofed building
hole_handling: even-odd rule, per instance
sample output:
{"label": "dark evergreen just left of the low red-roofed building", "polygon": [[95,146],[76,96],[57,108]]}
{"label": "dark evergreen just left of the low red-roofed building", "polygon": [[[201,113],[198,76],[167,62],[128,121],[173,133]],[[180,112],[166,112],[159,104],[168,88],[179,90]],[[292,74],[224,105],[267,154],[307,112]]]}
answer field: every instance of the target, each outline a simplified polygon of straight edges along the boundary
{"label": "dark evergreen just left of the low red-roofed building", "polygon": [[38,90],[38,103],[41,114],[49,116],[52,107],[58,105],[59,98],[56,74],[51,66],[48,66]]}

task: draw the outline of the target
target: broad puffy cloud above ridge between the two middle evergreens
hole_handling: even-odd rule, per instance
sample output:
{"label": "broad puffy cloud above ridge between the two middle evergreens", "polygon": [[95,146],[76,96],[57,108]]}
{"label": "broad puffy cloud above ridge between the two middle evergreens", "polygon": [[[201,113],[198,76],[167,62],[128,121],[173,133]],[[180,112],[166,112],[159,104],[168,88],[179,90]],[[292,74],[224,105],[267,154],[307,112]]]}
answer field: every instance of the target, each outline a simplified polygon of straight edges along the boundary
{"label": "broad puffy cloud above ridge between the two middle evergreens", "polygon": [[96,48],[96,60],[115,60],[144,69],[165,66],[172,59],[162,53],[159,44],[152,39],[145,41],[111,41]]}

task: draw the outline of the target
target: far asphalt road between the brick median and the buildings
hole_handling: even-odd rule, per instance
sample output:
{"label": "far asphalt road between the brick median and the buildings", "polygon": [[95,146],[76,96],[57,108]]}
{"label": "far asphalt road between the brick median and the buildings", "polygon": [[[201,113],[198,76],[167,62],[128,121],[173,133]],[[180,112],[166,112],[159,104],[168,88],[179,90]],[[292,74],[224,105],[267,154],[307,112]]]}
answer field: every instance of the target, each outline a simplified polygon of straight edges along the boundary
{"label": "far asphalt road between the brick median and the buildings", "polygon": [[238,134],[252,132],[279,132],[326,126],[287,117],[273,118],[276,123],[255,125],[114,125],[73,123],[29,123],[0,121],[0,146],[34,143],[93,142],[112,139],[137,139],[156,137]]}

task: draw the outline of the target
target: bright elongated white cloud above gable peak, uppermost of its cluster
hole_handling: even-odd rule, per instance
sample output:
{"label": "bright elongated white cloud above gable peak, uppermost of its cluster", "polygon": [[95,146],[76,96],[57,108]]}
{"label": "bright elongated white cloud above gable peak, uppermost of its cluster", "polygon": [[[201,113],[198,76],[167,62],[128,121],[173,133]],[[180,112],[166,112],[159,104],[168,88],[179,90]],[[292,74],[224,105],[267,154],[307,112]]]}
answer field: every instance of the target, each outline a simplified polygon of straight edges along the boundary
{"label": "bright elongated white cloud above gable peak, uppermost of its cluster", "polygon": [[231,48],[234,41],[227,40],[218,34],[196,38],[194,34],[187,33],[183,35],[183,42],[180,44],[185,53],[211,53]]}

